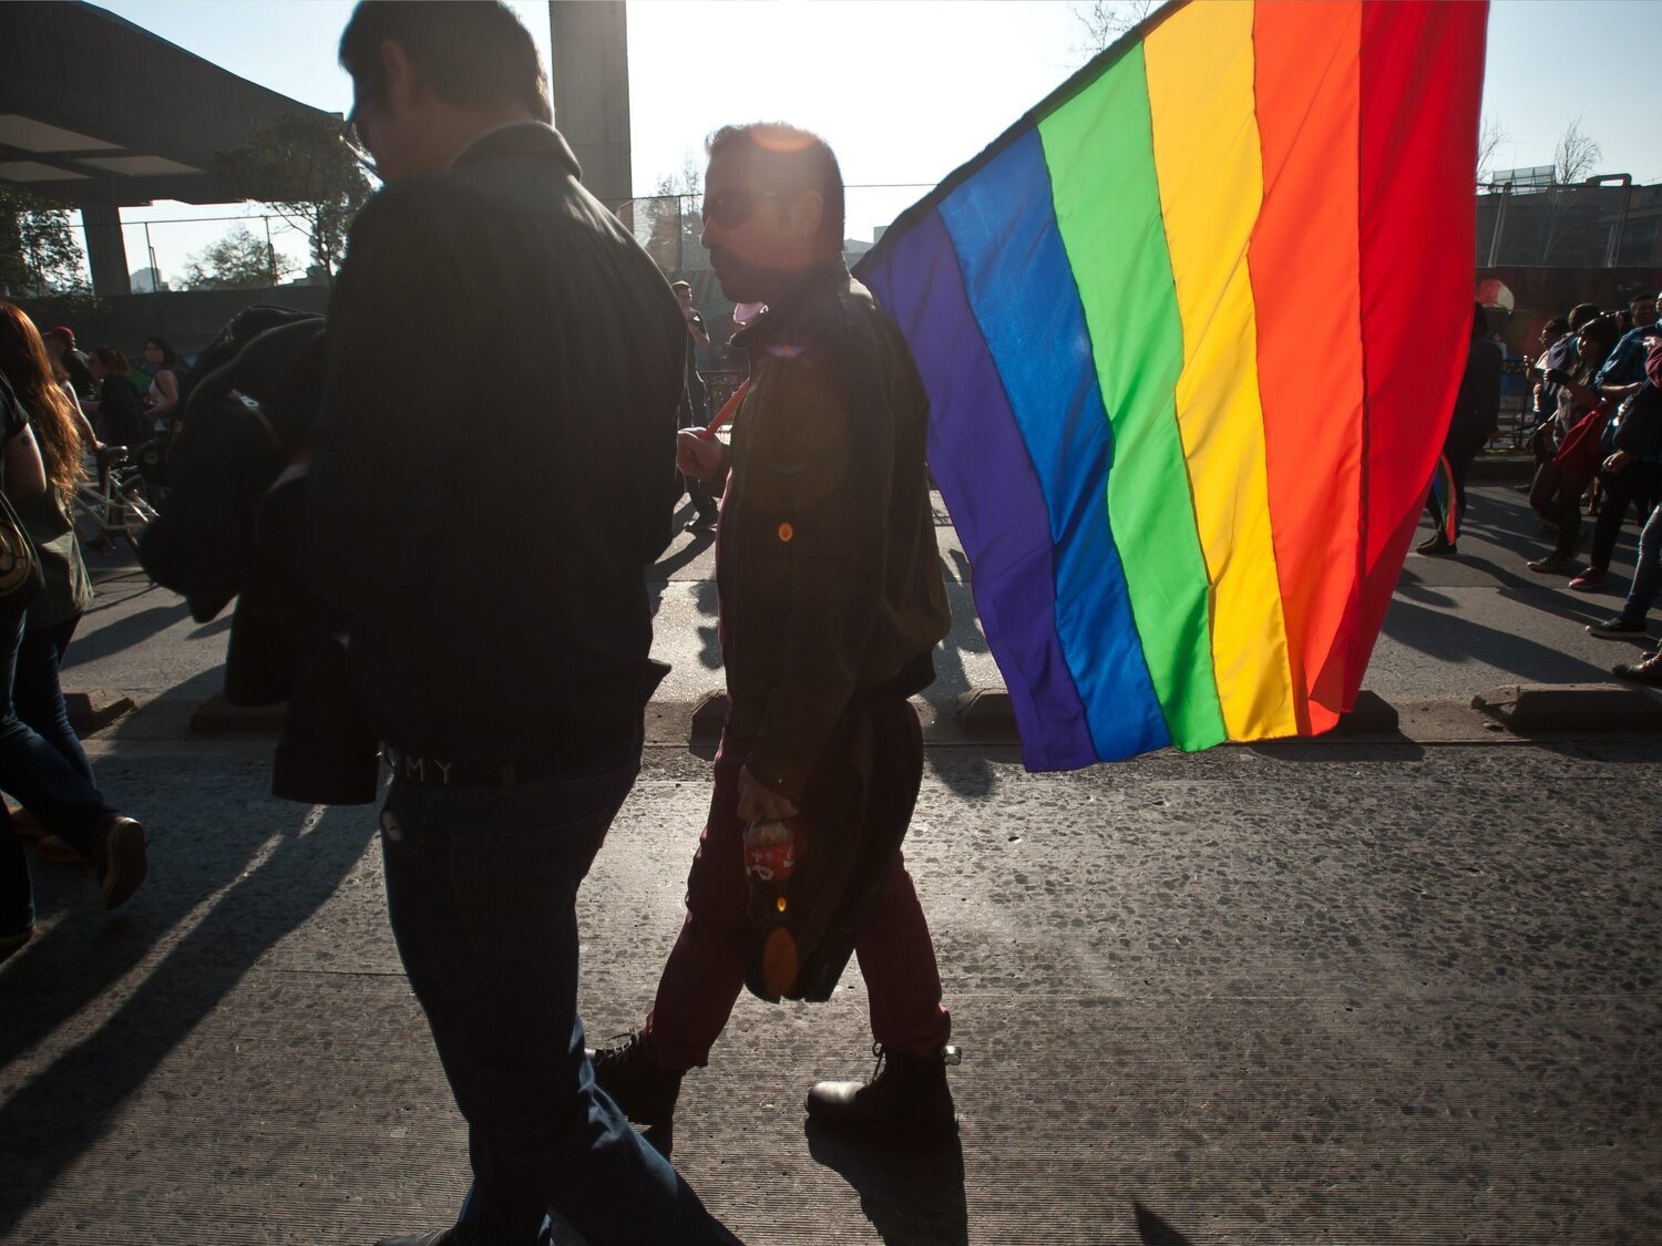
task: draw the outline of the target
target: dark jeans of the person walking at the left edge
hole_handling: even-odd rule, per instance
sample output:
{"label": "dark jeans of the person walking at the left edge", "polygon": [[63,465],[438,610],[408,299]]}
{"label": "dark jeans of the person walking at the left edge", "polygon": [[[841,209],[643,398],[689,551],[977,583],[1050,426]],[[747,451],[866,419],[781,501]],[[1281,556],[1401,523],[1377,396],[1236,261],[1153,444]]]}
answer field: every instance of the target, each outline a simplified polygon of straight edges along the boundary
{"label": "dark jeans of the person walking at the left edge", "polygon": [[[0,787],[12,792],[55,836],[91,856],[115,809],[103,796],[17,716],[12,689],[23,645],[23,615],[0,613]],[[15,934],[35,920],[28,862],[10,816],[0,816],[0,934]]]}

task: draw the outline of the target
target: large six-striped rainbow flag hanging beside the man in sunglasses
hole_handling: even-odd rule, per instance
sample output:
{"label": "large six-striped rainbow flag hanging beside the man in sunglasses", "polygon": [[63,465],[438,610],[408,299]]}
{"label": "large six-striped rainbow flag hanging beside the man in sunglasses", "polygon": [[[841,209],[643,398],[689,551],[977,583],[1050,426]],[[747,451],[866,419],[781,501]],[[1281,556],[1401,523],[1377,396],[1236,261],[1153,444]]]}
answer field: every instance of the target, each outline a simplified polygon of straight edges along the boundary
{"label": "large six-striped rainbow flag hanging beside the man in sunglasses", "polygon": [[1466,361],[1484,3],[1170,3],[856,272],[1032,769],[1331,728]]}

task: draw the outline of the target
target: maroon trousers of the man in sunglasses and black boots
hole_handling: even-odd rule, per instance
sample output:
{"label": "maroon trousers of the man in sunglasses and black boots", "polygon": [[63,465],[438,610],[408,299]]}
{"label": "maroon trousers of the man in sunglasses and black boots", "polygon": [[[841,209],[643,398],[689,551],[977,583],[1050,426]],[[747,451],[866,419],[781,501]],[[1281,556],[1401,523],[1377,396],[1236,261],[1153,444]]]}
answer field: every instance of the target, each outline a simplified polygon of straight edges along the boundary
{"label": "maroon trousers of the man in sunglasses and black boots", "polygon": [[[874,749],[916,748],[917,713],[906,701],[884,704],[871,721]],[[756,934],[746,912],[738,776],[750,748],[748,738],[723,733],[716,751],[710,816],[686,877],[686,922],[642,1030],[648,1057],[663,1068],[705,1065],[745,987],[745,964]],[[916,776],[911,797],[922,782],[921,753]],[[934,944],[899,854],[859,927],[854,955],[866,979],[873,1037],[901,1055],[939,1052],[951,1035],[952,1018],[941,1007]]]}

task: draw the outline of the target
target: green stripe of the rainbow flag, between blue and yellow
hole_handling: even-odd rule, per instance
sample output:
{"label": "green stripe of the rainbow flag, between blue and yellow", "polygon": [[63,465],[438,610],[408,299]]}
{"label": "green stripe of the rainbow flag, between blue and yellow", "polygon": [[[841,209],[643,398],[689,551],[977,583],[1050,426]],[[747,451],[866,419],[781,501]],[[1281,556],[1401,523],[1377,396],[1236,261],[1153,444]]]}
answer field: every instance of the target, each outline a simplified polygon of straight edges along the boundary
{"label": "green stripe of the rainbow flag, between blue and yellow", "polygon": [[1208,748],[1227,733],[1212,668],[1212,590],[1177,427],[1183,326],[1142,47],[1045,116],[1039,138],[1114,427],[1109,523],[1143,658],[1172,741]]}

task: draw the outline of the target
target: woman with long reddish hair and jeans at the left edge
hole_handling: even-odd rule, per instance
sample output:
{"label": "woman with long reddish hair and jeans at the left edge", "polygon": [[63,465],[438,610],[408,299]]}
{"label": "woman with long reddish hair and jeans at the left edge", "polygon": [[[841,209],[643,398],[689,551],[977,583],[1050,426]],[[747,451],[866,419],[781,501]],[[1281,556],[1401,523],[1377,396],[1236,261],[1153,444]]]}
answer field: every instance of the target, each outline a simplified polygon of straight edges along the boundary
{"label": "woman with long reddish hair and jeans at the left edge", "polygon": [[113,909],[145,877],[145,831],[110,807],[93,782],[58,684],[63,650],[91,603],[68,513],[81,473],[81,437],[40,332],[10,302],[0,302],[0,375],[40,447],[45,477],[45,488],[10,495],[35,540],[45,588],[28,603],[15,643],[0,648],[0,787],[96,867],[105,905]]}

